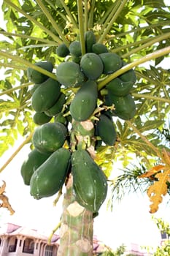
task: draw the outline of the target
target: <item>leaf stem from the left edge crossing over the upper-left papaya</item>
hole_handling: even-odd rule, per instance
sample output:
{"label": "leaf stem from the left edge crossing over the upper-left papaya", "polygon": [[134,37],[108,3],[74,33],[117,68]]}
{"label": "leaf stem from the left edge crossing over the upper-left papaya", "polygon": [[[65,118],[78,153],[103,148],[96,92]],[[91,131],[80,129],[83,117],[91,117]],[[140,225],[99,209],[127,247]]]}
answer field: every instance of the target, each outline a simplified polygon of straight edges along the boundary
{"label": "leaf stem from the left edge crossing over the upper-left papaya", "polygon": [[32,64],[31,62],[26,61],[25,59],[21,59],[19,56],[14,56],[11,53],[4,52],[3,50],[0,50],[0,55],[4,56],[7,59],[13,59],[15,61],[18,61],[18,63],[23,64],[26,67],[31,67],[31,68],[41,72],[42,74],[45,74],[45,75],[49,76],[50,78],[53,78],[54,80],[57,80],[56,76],[53,73],[48,72],[47,70],[42,69],[41,67],[38,67],[38,66]]}

